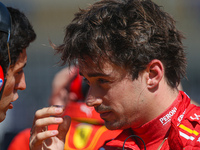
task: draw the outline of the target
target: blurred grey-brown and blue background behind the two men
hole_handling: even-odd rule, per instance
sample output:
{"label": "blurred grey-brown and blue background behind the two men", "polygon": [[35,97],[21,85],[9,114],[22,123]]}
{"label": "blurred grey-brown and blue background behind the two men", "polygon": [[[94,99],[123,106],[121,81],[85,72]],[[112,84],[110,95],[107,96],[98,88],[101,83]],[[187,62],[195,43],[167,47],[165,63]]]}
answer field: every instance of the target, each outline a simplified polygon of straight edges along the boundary
{"label": "blurred grey-brown and blue background behind the two men", "polygon": [[[177,27],[186,39],[188,68],[187,79],[182,81],[186,93],[200,103],[200,1],[199,0],[154,0],[177,21]],[[23,11],[32,23],[37,39],[27,50],[25,68],[27,89],[19,92],[14,108],[0,124],[1,150],[6,145],[5,134],[17,133],[31,127],[36,110],[48,106],[51,82],[56,72],[59,55],[49,45],[48,39],[61,44],[64,28],[79,8],[85,8],[94,0],[1,0],[6,6]],[[8,141],[7,141],[8,142]]]}

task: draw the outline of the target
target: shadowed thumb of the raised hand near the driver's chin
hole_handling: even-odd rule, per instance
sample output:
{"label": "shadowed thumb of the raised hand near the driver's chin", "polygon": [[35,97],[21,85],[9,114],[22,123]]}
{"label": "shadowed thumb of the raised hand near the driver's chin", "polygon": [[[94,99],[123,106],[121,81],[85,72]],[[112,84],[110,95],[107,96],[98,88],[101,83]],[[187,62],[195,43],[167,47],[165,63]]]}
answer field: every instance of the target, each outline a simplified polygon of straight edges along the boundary
{"label": "shadowed thumb of the raised hand near the driver's chin", "polygon": [[57,137],[63,142],[65,142],[65,137],[69,130],[70,124],[71,124],[71,118],[69,116],[64,116],[63,123],[58,126],[59,134],[57,135]]}

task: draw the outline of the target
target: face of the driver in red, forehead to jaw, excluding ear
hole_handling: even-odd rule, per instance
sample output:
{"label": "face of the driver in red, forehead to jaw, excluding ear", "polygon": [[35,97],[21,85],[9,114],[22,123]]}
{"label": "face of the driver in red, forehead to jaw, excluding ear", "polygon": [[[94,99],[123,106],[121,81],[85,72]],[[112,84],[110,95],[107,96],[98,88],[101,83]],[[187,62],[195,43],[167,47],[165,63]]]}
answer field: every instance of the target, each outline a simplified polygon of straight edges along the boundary
{"label": "face of the driver in red, forehead to jaw, excluding ear", "polygon": [[90,85],[86,104],[93,106],[110,130],[137,128],[146,122],[144,74],[138,79],[123,68],[104,63],[102,69],[92,63],[79,61],[80,74]]}

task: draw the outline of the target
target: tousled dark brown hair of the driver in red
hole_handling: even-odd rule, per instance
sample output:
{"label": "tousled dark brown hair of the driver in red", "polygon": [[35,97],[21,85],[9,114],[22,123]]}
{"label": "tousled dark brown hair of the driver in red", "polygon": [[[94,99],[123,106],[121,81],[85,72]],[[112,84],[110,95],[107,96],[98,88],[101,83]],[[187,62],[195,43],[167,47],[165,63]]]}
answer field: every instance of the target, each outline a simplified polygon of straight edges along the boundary
{"label": "tousled dark brown hair of the driver in red", "polygon": [[174,88],[186,74],[186,56],[174,19],[151,0],[102,0],[80,9],[56,47],[63,64],[102,58],[125,68],[133,80],[153,59],[165,68]]}

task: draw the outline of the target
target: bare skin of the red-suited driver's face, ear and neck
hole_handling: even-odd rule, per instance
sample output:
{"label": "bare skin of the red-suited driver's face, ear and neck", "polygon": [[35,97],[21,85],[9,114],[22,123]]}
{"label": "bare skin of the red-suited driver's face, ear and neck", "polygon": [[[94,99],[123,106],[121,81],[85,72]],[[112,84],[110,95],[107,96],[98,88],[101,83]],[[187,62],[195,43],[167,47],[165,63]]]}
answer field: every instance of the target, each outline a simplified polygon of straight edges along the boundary
{"label": "bare skin of the red-suited driver's face, ear and neck", "polygon": [[[125,69],[108,61],[104,61],[101,69],[97,69],[92,61],[87,62],[90,65],[79,61],[80,74],[90,85],[86,103],[100,113],[110,130],[140,127],[162,113],[178,95],[177,90],[167,85],[159,60],[149,63],[135,80]],[[165,96],[160,89],[171,93],[168,102],[159,102],[160,96]],[[160,107],[156,108],[157,102]]]}

